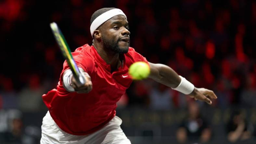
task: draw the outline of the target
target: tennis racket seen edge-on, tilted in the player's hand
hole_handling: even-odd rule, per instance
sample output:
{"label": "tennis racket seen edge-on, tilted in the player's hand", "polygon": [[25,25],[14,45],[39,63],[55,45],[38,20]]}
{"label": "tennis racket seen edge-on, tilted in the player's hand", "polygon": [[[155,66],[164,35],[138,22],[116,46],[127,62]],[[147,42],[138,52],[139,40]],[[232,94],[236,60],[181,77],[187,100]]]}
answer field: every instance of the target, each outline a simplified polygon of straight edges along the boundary
{"label": "tennis racket seen edge-on, tilted in the player's hand", "polygon": [[59,48],[62,52],[63,57],[67,60],[67,63],[73,73],[74,78],[76,79],[78,84],[84,85],[85,79],[82,76],[82,73],[79,71],[79,69],[74,61],[74,58],[70,52],[70,48],[69,48],[63,34],[61,33],[60,29],[58,28],[58,25],[55,22],[52,22],[52,23],[50,23],[50,27],[52,29],[55,40],[59,45]]}

